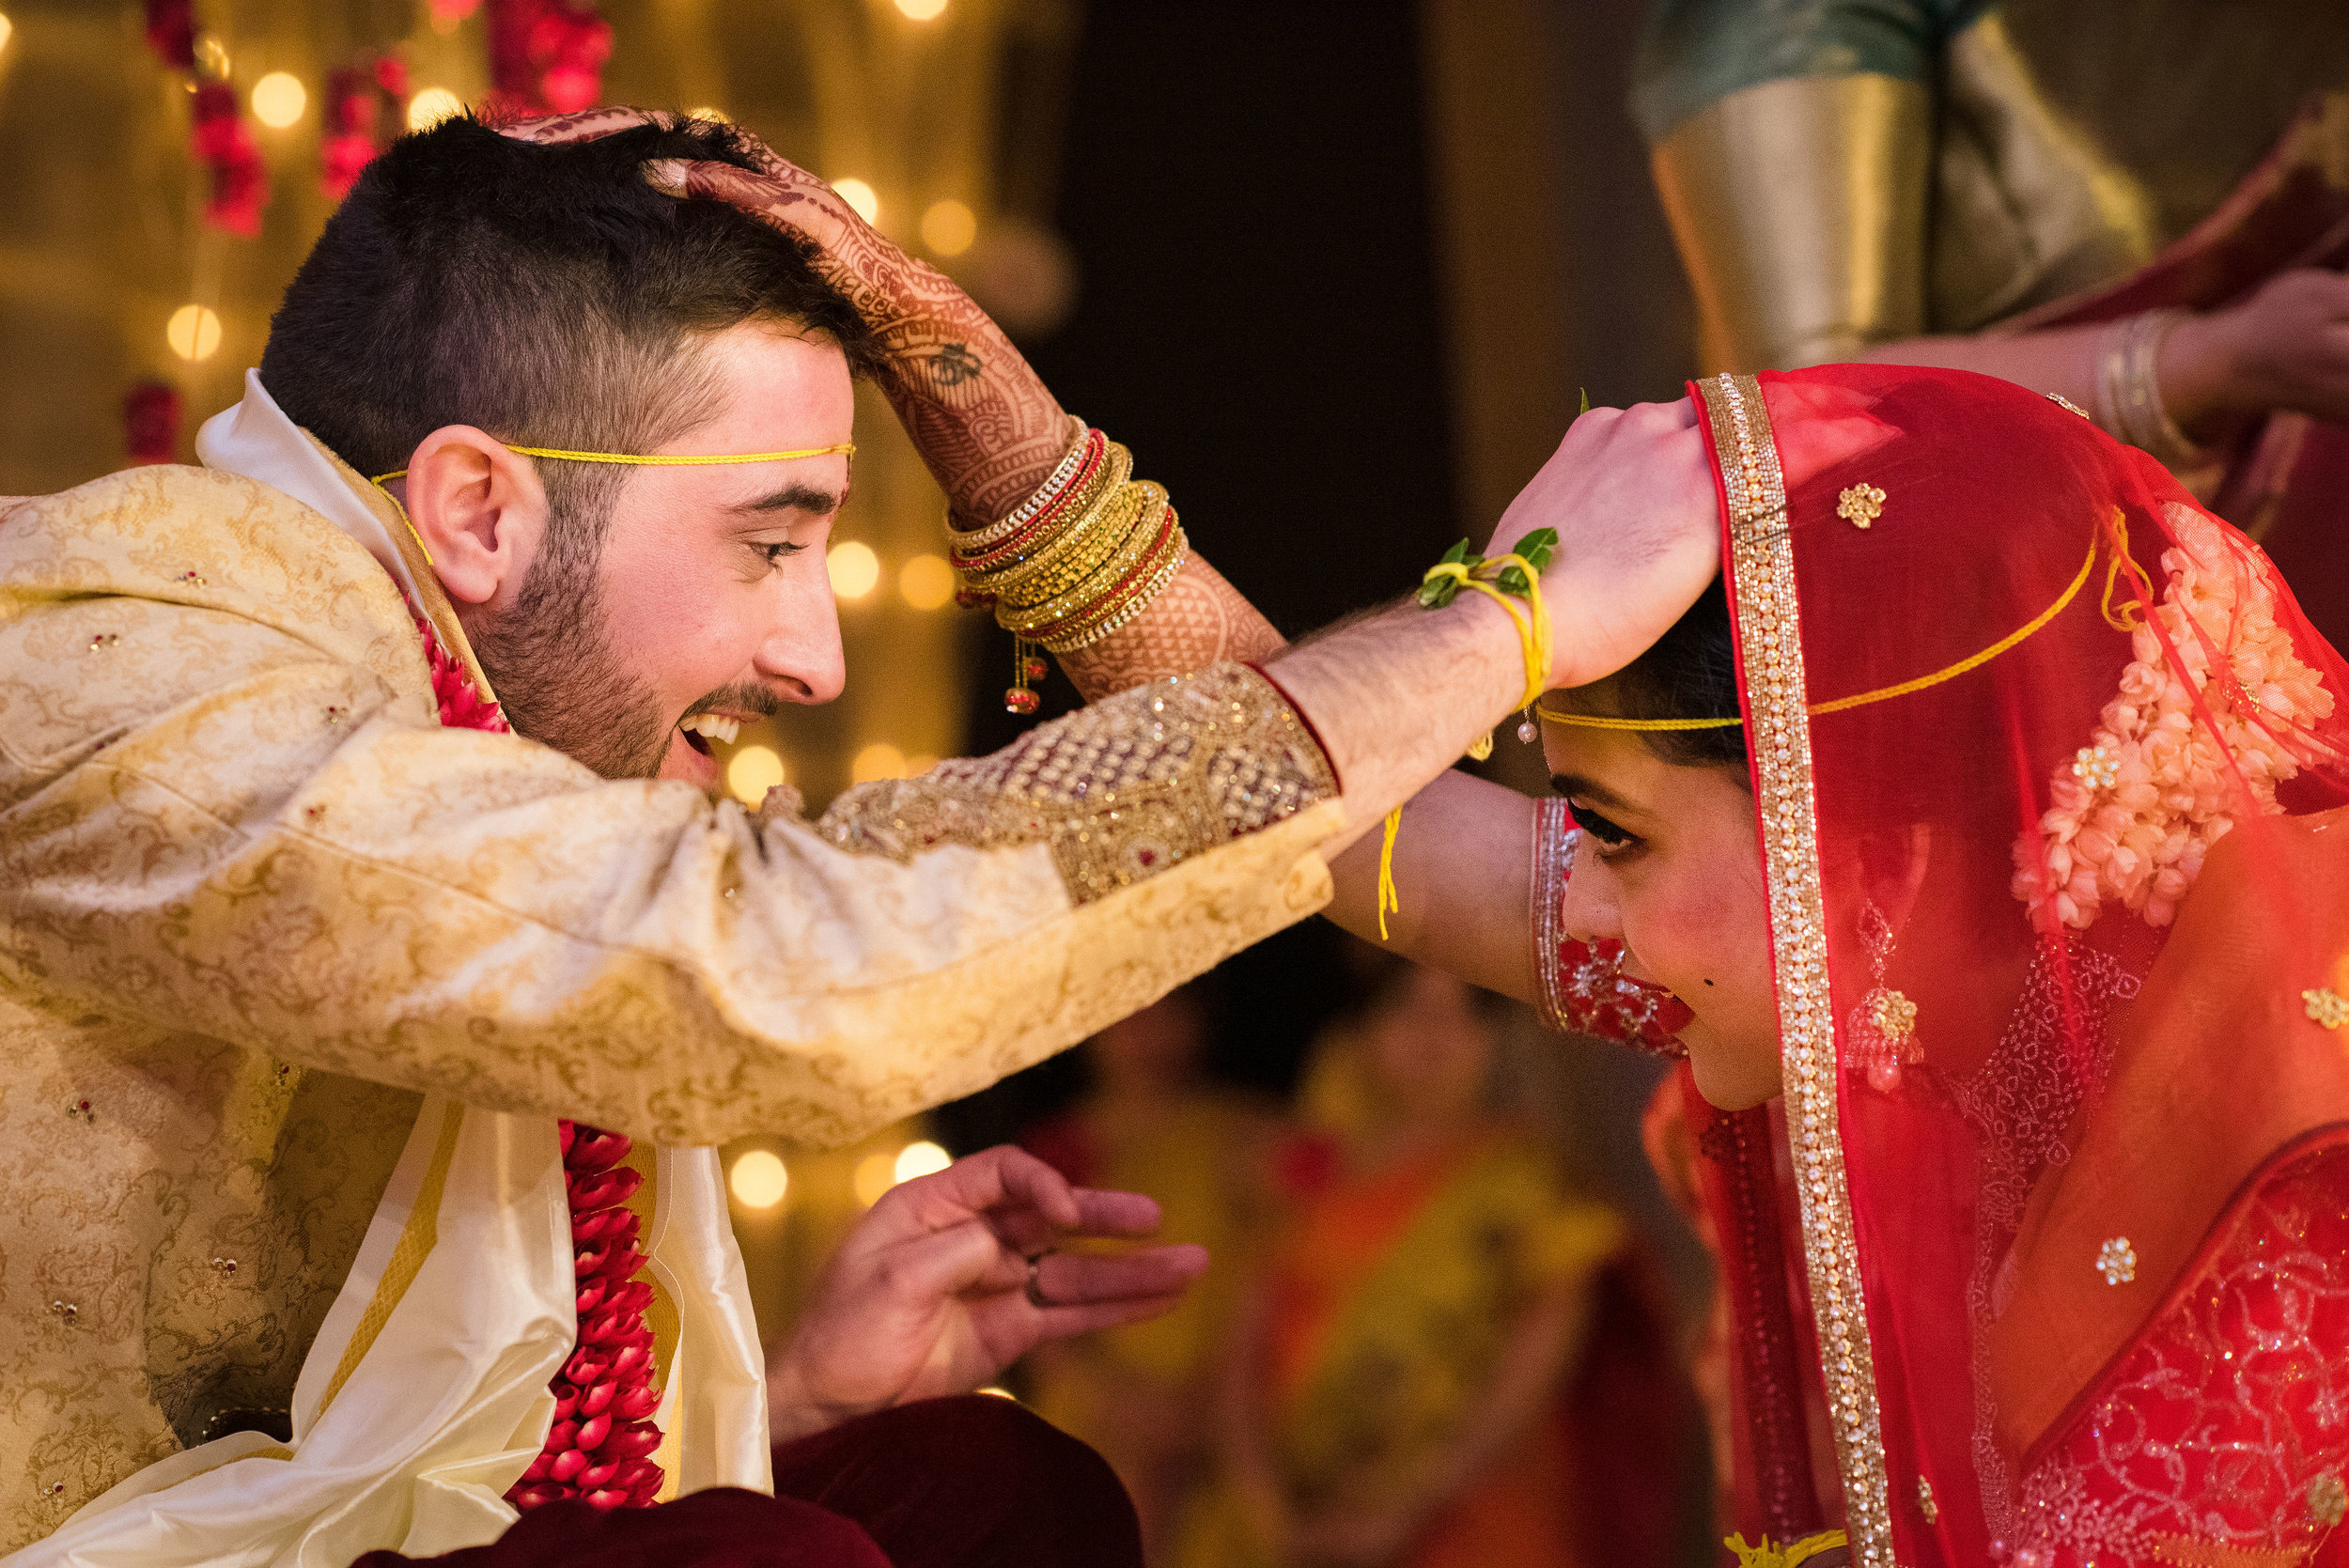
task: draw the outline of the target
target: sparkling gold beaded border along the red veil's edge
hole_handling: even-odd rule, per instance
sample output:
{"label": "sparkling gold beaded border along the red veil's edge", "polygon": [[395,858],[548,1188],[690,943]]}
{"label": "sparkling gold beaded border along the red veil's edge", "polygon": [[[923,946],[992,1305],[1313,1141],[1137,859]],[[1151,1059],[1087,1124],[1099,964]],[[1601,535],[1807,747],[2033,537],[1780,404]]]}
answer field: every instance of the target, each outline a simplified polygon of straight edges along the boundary
{"label": "sparkling gold beaded border along the red veil's edge", "polygon": [[1844,1136],[1837,1124],[1835,1005],[1828,998],[1828,911],[1818,876],[1818,805],[1811,791],[1811,716],[1802,671],[1802,606],[1785,474],[1762,383],[1698,383],[1729,495],[1729,580],[1745,662],[1745,723],[1769,885],[1771,967],[1778,981],[1778,1059],[1785,1124],[1802,1195],[1802,1253],[1811,1319],[1844,1486],[1844,1533],[1860,1568],[1893,1568],[1884,1427],[1867,1345],[1867,1298],[1851,1228]]}

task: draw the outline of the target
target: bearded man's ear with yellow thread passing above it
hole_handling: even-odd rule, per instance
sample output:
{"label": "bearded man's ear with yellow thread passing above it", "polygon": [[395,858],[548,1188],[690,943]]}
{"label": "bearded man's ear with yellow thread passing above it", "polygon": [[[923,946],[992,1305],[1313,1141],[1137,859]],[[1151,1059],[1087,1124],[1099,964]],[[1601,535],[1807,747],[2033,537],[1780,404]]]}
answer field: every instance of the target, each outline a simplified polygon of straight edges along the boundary
{"label": "bearded man's ear with yellow thread passing above it", "polygon": [[503,608],[547,538],[538,469],[472,425],[442,425],[397,481],[432,575],[458,606]]}

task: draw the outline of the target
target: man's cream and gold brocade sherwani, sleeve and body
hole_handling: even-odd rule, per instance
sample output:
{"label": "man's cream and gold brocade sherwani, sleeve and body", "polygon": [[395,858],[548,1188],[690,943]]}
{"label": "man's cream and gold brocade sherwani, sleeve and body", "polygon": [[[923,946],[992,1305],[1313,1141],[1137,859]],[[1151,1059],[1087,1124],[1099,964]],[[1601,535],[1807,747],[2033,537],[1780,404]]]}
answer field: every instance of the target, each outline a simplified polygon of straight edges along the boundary
{"label": "man's cream and gold brocade sherwani, sleeve and body", "polygon": [[[1273,702],[1233,671],[1189,688]],[[444,730],[392,577],[268,486],[146,467],[14,505],[0,1552],[221,1408],[289,1404],[418,1091],[669,1145],[839,1143],[1320,908],[1344,807],[1311,737],[1252,714],[1174,768],[1210,805],[1151,772],[1137,831],[1118,807],[1066,854],[853,854]],[[1146,833],[1182,859],[1116,885]]]}

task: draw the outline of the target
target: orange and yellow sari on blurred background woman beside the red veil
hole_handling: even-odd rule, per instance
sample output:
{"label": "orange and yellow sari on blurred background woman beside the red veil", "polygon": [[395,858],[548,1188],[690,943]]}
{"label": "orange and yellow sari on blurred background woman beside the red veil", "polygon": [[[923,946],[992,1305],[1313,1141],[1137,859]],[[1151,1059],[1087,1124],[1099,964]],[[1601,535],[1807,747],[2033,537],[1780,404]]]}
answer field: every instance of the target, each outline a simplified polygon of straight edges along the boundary
{"label": "orange and yellow sari on blurred background woman beside the red veil", "polygon": [[[1290,1498],[1304,1509],[1374,1507],[1405,1493],[1431,1455],[1461,1441],[1525,1307],[1567,1282],[1588,1293],[1626,1239],[1609,1207],[1571,1197],[1550,1155],[1501,1124],[1367,1174],[1332,1169],[1266,1261],[1259,1376]],[[1583,1561],[1562,1392],[1402,1561]],[[1184,1568],[1276,1561],[1236,1488],[1203,1498]]]}

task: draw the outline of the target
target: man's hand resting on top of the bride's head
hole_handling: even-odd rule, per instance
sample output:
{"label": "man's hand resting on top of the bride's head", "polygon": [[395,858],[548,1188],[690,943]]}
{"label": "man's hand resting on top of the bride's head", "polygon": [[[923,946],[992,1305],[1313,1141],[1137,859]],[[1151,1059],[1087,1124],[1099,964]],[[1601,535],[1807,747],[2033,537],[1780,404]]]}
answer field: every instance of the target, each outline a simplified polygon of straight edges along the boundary
{"label": "man's hand resting on top of the bride's head", "polygon": [[1557,530],[1541,573],[1550,685],[1588,685],[1647,653],[1722,568],[1712,465],[1689,399],[1574,420],[1485,554],[1534,528]]}

